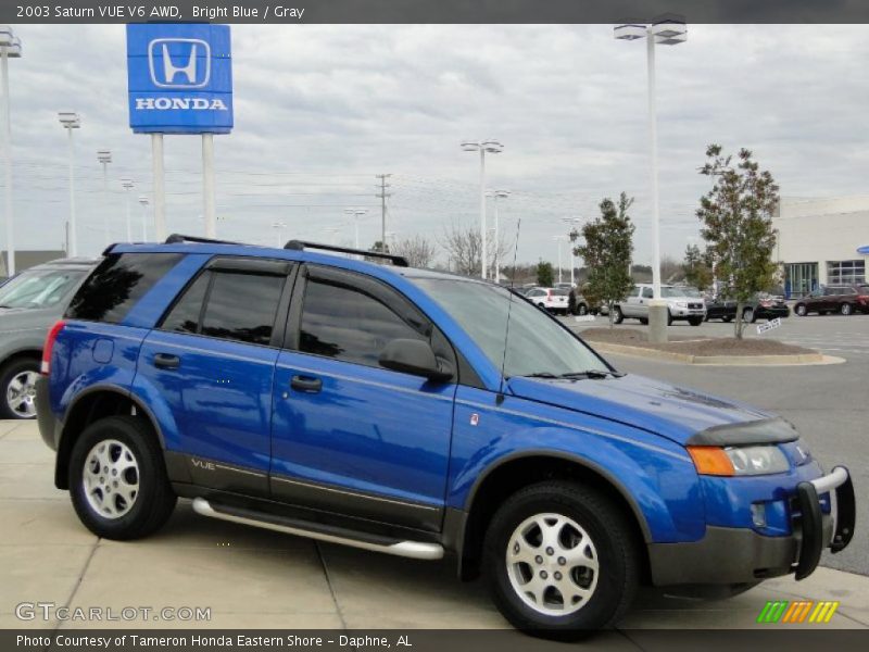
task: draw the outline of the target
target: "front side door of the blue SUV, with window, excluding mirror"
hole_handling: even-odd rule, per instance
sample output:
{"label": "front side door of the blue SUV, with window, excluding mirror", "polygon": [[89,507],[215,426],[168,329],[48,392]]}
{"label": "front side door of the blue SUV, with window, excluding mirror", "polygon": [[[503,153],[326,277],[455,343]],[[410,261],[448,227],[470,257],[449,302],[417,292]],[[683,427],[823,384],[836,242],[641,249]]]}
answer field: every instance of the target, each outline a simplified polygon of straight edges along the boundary
{"label": "front side door of the blue SUV, with window, excluding mirror", "polygon": [[456,385],[381,367],[386,344],[406,338],[456,368],[441,333],[386,284],[300,273],[275,375],[276,500],[440,530]]}

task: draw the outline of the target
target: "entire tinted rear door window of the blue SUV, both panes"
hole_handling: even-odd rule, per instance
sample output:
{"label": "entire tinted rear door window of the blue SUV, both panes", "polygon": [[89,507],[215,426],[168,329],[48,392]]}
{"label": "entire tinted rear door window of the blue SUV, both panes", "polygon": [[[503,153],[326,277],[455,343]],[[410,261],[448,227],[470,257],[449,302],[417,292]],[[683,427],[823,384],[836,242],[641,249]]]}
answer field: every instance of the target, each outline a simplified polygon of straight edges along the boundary
{"label": "entire tinted rear door window of the blue SUV, both panes", "polygon": [[205,272],[181,296],[163,319],[161,328],[268,344],[285,278]]}

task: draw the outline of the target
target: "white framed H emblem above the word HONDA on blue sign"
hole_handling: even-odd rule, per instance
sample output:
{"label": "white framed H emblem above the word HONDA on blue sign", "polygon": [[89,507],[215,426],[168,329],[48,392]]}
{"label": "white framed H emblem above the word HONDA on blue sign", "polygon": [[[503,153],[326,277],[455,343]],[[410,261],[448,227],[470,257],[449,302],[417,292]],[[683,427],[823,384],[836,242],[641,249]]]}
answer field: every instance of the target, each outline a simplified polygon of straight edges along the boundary
{"label": "white framed H emblem above the word HONDA on blue sign", "polygon": [[148,43],[148,65],[158,88],[202,88],[211,77],[211,46],[198,38],[155,38]]}

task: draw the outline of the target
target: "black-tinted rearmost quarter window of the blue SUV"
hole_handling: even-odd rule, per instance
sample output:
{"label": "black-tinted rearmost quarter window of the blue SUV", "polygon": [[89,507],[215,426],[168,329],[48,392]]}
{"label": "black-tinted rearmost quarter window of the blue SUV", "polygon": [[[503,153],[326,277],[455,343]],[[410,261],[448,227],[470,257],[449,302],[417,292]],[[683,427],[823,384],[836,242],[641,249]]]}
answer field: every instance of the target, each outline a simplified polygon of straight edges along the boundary
{"label": "black-tinted rearmost quarter window of the blue SUV", "polygon": [[178,261],[180,253],[112,253],[76,292],[66,317],[118,324]]}

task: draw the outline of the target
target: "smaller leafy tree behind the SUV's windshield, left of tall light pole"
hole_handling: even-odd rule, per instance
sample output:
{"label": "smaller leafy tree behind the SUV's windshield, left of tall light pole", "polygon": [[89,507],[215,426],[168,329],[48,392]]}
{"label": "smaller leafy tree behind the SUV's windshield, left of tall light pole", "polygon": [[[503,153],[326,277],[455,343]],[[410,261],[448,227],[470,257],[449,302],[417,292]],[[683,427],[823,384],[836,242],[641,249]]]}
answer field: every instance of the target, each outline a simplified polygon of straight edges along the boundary
{"label": "smaller leafy tree behind the SUV's windshield, left of tall light pole", "polygon": [[589,293],[600,298],[609,309],[609,327],[613,327],[613,304],[631,289],[631,254],[633,253],[634,225],[628,216],[633,198],[622,192],[618,205],[609,198],[601,202],[601,216],[570,233],[570,240],[580,238],[574,254],[584,260],[589,269]]}

